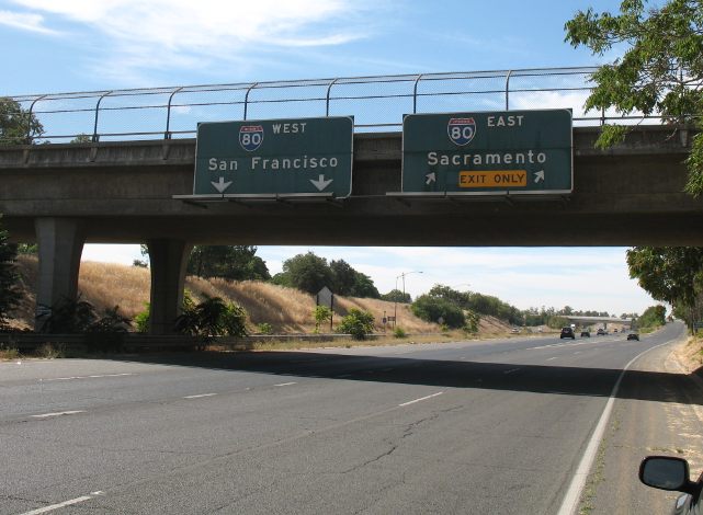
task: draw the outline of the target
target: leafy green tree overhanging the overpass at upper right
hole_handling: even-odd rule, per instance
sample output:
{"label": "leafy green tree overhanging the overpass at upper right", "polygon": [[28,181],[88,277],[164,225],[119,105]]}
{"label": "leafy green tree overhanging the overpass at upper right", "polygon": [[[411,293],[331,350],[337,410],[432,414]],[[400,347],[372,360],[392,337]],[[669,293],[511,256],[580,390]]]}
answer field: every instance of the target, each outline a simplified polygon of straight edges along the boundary
{"label": "leafy green tree overhanging the overpass at upper right", "polygon": [[[703,4],[700,0],[668,0],[645,10],[645,0],[623,0],[620,13],[578,11],[566,23],[566,41],[603,56],[626,46],[624,55],[592,76],[596,88],[586,111],[615,108],[623,115],[659,114],[665,123],[703,124]],[[597,141],[609,147],[625,137],[626,127],[605,125]],[[703,133],[693,136],[687,159],[685,191],[703,194]]]}

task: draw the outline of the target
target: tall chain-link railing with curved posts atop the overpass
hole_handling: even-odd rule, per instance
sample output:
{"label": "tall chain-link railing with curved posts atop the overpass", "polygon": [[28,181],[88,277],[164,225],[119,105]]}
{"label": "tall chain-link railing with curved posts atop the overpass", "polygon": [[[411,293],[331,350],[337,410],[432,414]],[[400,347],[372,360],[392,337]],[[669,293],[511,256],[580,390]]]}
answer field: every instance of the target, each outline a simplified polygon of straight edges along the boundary
{"label": "tall chain-link railing with curved posts atop the overpass", "polygon": [[[585,113],[597,68],[420,73],[179,85],[12,96],[26,142],[194,137],[199,122],[354,116],[356,131],[399,130],[410,113],[564,107],[576,125],[625,121]],[[20,113],[18,113],[20,115]],[[35,117],[44,131],[31,126]],[[633,116],[640,119],[642,116]]]}

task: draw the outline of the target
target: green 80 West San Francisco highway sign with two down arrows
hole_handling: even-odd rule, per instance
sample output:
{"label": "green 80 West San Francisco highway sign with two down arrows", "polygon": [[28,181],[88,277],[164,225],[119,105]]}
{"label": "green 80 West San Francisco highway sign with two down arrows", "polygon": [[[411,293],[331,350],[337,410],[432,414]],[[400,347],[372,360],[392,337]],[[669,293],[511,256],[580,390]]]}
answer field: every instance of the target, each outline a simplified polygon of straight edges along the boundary
{"label": "green 80 West San Francisco highway sign with two down arrows", "polygon": [[201,123],[194,195],[351,195],[352,117]]}

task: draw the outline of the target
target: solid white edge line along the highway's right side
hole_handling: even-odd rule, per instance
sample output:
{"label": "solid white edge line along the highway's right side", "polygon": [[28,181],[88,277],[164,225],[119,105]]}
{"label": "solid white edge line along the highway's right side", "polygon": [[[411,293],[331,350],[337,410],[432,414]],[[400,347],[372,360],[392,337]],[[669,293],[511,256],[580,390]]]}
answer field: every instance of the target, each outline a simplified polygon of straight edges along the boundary
{"label": "solid white edge line along the highway's right side", "polygon": [[651,348],[646,350],[645,352],[637,354],[635,357],[633,357],[627,365],[625,365],[625,368],[620,373],[620,376],[617,376],[617,380],[615,381],[615,385],[613,386],[613,389],[610,393],[610,398],[608,399],[608,403],[605,404],[605,409],[603,410],[603,413],[601,413],[601,417],[598,421],[598,425],[596,426],[596,430],[593,430],[593,434],[591,435],[591,439],[588,443],[588,446],[586,447],[586,451],[583,453],[583,456],[581,456],[581,461],[579,462],[576,472],[574,473],[574,478],[571,478],[571,483],[569,484],[569,489],[566,492],[566,495],[564,496],[564,501],[562,501],[562,507],[559,507],[559,511],[557,512],[557,515],[574,515],[576,513],[576,508],[578,507],[578,503],[581,500],[581,492],[583,490],[583,487],[586,485],[586,481],[588,480],[588,474],[591,470],[591,466],[593,465],[593,461],[596,460],[596,455],[598,454],[598,447],[601,444],[601,440],[603,439],[603,434],[605,433],[605,427],[608,426],[608,420],[610,419],[610,413],[613,411],[613,404],[615,403],[615,396],[617,394],[617,390],[620,388],[620,384],[625,376],[625,373],[630,368],[630,366],[635,363],[637,359],[639,359],[642,356],[647,354],[648,352],[654,351],[655,348],[659,348],[662,345],[667,345],[671,343],[671,341],[661,343],[659,345],[656,345]]}

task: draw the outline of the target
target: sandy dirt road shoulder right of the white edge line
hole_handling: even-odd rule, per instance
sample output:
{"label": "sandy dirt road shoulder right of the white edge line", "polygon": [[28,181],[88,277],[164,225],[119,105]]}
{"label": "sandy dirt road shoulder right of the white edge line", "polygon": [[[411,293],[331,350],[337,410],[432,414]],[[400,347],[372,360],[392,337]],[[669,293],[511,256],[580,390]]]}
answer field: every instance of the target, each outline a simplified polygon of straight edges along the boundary
{"label": "sandy dirt road shoulder right of the white edge line", "polygon": [[703,469],[703,381],[681,363],[687,340],[656,348],[625,374],[581,495],[580,514],[669,513],[676,492],[639,483],[640,460],[679,456]]}

